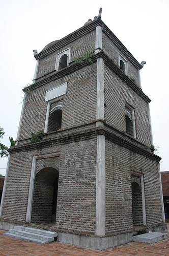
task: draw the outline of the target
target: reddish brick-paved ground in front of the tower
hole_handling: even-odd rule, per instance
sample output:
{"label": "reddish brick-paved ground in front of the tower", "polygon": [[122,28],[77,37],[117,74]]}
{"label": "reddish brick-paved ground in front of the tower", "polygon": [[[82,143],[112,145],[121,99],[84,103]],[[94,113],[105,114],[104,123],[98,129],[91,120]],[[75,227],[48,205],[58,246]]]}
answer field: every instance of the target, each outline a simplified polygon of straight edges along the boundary
{"label": "reddish brick-paved ground in front of the tower", "polygon": [[[169,225],[168,225],[169,230]],[[98,256],[98,255],[165,255],[169,256],[169,239],[156,244],[134,243],[121,245],[103,251],[80,248],[73,245],[53,242],[46,245],[39,245],[31,242],[24,242],[3,236],[4,230],[0,230],[0,255],[58,255],[58,256]]]}

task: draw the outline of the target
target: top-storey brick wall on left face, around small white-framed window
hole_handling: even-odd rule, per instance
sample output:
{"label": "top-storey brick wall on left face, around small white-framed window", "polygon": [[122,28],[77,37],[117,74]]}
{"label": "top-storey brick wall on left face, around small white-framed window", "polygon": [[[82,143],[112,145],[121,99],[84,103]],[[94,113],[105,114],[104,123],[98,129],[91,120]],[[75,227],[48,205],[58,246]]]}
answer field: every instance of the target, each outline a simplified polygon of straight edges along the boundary
{"label": "top-storey brick wall on left face, around small white-framed window", "polygon": [[39,60],[39,68],[37,73],[37,78],[53,71],[55,69],[55,61],[57,54],[71,47],[71,59],[73,61],[75,58],[83,56],[87,52],[93,52],[95,50],[95,30],[83,35],[82,37],[74,40],[65,47],[49,54],[48,56]]}

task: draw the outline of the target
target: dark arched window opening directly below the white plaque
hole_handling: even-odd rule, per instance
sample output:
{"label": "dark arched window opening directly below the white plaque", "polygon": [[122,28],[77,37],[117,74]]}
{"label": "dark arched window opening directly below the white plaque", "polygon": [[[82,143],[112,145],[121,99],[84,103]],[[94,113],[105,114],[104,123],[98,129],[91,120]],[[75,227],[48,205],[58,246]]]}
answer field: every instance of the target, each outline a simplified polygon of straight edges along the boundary
{"label": "dark arched window opening directly below the white plaque", "polygon": [[54,132],[61,129],[62,126],[62,110],[57,109],[51,113],[48,121],[48,132]]}

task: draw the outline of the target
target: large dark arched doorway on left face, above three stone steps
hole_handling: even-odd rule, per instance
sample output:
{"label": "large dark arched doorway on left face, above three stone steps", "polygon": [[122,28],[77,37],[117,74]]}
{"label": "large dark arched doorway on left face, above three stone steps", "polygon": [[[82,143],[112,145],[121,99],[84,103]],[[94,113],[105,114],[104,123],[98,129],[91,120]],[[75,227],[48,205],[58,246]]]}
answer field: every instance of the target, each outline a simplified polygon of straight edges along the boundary
{"label": "large dark arched doorway on left face, above three stone steps", "polygon": [[55,223],[57,214],[59,172],[43,168],[35,176],[32,223]]}

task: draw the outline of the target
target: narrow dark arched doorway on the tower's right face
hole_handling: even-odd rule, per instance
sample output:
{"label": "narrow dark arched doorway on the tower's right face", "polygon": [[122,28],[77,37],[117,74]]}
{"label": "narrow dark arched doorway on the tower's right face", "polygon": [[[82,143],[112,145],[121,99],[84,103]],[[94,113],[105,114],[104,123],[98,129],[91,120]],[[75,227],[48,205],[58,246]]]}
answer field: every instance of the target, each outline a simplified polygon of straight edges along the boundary
{"label": "narrow dark arched doorway on the tower's right face", "polygon": [[133,225],[143,225],[142,189],[137,182],[131,183]]}

